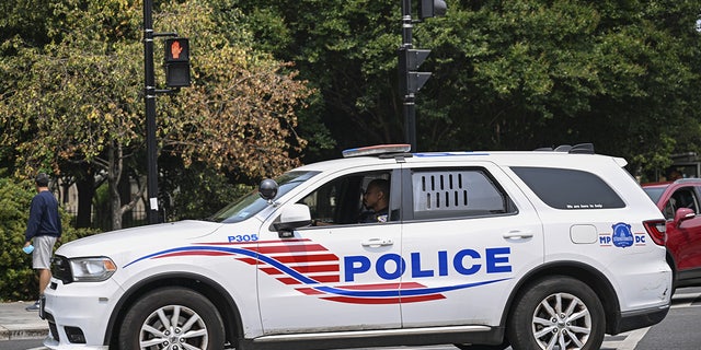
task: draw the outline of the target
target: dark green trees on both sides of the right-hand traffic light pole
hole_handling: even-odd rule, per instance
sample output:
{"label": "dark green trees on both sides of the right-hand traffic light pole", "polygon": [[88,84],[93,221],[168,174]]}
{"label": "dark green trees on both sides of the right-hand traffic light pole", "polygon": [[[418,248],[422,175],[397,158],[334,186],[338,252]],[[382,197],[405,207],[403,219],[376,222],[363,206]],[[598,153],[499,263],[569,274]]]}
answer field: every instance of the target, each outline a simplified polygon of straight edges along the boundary
{"label": "dark green trees on both sides of the right-hand traffic light pole", "polygon": [[[420,150],[594,142],[645,168],[699,148],[699,0],[447,3],[414,26],[434,73],[417,94]],[[237,5],[256,45],[319,89],[340,148],[403,141],[400,1]]]}

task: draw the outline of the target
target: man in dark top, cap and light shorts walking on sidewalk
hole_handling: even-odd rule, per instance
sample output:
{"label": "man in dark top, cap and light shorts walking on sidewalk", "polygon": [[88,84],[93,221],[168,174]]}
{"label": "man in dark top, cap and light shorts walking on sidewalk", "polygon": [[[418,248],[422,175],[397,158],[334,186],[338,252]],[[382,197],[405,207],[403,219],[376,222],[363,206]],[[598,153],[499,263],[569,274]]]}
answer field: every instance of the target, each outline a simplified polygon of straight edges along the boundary
{"label": "man in dark top, cap and light shorts walking on sidewalk", "polygon": [[[58,215],[58,201],[54,194],[48,190],[48,175],[41,173],[36,176],[36,191],[30,207],[30,220],[24,233],[24,247],[27,249],[34,242],[32,252],[32,268],[39,275],[39,296],[51,279],[50,259],[54,254],[54,245],[60,238],[62,229],[61,220]],[[26,250],[25,250],[26,252]],[[26,311],[39,310],[37,301]]]}

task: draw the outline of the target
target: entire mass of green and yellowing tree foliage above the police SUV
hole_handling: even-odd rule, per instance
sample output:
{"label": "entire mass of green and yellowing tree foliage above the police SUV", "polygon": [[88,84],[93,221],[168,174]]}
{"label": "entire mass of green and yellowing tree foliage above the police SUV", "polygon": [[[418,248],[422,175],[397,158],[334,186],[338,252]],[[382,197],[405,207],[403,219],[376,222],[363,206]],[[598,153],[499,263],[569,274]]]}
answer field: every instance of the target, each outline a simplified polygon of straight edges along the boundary
{"label": "entire mass of green and yellowing tree foliage above the police SUV", "polygon": [[[701,0],[447,3],[445,18],[413,26],[413,46],[432,50],[416,96],[420,151],[594,142],[635,173],[701,151]],[[174,217],[199,214],[185,202],[206,200],[189,191],[231,196],[222,174],[252,184],[302,156],[404,141],[400,1],[156,5],[154,28],[192,45],[194,85],[158,98],[161,159],[179,159],[161,167],[183,180],[166,187],[184,199]],[[142,175],[140,3],[9,0],[0,10],[0,161],[65,175],[84,162],[97,173],[120,154]]]}

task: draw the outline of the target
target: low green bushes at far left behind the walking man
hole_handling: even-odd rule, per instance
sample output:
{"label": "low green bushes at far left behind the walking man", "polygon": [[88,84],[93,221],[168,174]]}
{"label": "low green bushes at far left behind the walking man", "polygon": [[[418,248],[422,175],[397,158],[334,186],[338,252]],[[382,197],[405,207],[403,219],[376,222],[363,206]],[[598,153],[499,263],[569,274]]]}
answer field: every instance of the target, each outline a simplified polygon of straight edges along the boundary
{"label": "low green bushes at far left behind the walking man", "polygon": [[[30,182],[15,183],[8,177],[0,178],[0,301],[37,298],[38,280],[32,269],[32,256],[22,250],[30,203],[34,195],[34,187]],[[93,233],[72,229],[66,213],[61,214],[61,219],[62,243]]]}

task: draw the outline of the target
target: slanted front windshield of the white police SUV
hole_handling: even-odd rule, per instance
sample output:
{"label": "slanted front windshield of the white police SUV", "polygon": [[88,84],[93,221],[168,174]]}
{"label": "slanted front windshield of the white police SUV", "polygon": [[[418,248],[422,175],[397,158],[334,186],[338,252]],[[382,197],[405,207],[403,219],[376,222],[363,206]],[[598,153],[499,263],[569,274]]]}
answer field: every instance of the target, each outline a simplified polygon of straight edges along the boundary
{"label": "slanted front windshield of the white police SUV", "polygon": [[[319,172],[289,172],[283,174],[275,179],[279,186],[275,198],[281,197],[317,174]],[[208,220],[223,223],[239,222],[255,215],[266,206],[267,200],[261,198],[256,189],[219,210]]]}

